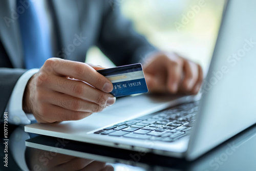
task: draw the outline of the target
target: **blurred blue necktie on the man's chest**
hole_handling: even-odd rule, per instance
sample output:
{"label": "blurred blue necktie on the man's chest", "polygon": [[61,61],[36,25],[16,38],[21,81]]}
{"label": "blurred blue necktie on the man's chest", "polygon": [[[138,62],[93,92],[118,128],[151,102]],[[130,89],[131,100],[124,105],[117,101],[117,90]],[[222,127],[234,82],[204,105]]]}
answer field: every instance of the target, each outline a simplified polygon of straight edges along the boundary
{"label": "blurred blue necktie on the man's chest", "polygon": [[27,1],[24,6],[24,3],[20,2],[22,0],[17,0],[17,8],[24,9],[24,13],[19,15],[18,20],[22,35],[25,67],[27,69],[40,68],[51,57],[50,34],[46,35],[48,29],[40,27],[33,3]]}

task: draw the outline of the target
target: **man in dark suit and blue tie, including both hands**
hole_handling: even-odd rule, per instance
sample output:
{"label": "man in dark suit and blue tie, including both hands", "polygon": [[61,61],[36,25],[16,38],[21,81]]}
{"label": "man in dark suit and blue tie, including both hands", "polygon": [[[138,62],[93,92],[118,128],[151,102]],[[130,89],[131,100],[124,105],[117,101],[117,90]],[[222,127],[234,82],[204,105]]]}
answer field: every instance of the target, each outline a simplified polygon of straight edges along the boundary
{"label": "man in dark suit and blue tie, including both hands", "polygon": [[142,62],[150,92],[200,89],[201,67],[150,45],[115,1],[4,0],[0,16],[0,112],[15,124],[29,124],[29,113],[42,123],[79,120],[114,104],[102,68],[84,63],[94,45],[117,66]]}

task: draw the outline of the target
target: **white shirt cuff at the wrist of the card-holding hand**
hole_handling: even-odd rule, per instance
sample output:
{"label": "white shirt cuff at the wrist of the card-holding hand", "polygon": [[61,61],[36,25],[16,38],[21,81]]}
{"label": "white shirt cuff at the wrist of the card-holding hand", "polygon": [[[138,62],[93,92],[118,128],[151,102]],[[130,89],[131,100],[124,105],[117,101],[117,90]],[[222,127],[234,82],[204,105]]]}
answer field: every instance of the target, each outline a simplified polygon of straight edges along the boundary
{"label": "white shirt cuff at the wrist of the card-holding hand", "polygon": [[[31,69],[25,72],[15,84],[6,111],[8,112],[8,122],[12,124],[30,124],[31,120],[23,111],[23,94],[29,79],[39,71]],[[31,118],[32,119],[32,118]]]}

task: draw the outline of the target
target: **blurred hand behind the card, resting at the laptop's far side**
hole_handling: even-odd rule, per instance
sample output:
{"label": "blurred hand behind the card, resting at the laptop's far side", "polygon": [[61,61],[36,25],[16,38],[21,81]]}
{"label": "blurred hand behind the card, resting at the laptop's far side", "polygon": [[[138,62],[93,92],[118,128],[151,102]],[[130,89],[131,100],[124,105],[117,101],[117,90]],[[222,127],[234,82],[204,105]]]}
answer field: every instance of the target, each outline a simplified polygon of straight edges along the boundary
{"label": "blurred hand behind the card, resting at the laptop's far side", "polygon": [[154,54],[143,70],[151,92],[197,94],[203,81],[202,68],[175,53]]}

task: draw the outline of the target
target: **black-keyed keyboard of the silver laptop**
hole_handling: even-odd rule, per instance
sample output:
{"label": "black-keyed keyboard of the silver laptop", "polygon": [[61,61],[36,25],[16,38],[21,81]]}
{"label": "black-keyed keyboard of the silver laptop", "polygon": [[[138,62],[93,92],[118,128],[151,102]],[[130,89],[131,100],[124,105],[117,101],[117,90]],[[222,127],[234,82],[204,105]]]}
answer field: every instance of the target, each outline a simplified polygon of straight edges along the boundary
{"label": "black-keyed keyboard of the silver laptop", "polygon": [[167,108],[105,127],[94,134],[172,142],[189,134],[195,122],[198,103],[196,101]]}

